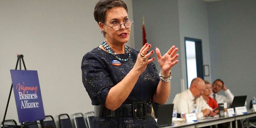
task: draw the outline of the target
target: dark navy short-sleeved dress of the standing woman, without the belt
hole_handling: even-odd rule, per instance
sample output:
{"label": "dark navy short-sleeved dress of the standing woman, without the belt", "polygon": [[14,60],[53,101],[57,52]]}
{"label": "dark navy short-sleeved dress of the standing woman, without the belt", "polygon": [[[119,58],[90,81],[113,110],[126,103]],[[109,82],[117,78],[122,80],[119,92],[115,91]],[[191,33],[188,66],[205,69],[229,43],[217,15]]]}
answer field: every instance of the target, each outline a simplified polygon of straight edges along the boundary
{"label": "dark navy short-sleeved dress of the standing woman, without the belt", "polygon": [[[82,82],[88,92],[92,105],[104,104],[106,96],[113,86],[119,83],[130,72],[136,62],[138,50],[130,49],[129,54],[118,54],[120,58],[128,58],[127,62],[116,58],[97,47],[86,53],[82,59]],[[114,60],[114,61],[113,61]],[[114,63],[113,63],[114,62]],[[121,64],[121,65],[119,65]],[[152,99],[160,79],[154,63],[148,64],[146,70],[140,75],[136,85],[124,104],[132,104],[134,101]],[[145,120],[134,120],[133,117],[94,117],[92,128],[158,128],[158,124],[152,116]]]}

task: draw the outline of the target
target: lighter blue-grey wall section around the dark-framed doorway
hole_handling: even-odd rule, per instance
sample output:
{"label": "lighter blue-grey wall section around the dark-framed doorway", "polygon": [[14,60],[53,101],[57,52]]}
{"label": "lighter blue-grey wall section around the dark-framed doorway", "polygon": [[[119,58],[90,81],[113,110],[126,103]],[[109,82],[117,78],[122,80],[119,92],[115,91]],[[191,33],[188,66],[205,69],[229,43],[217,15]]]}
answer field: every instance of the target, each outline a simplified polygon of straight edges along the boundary
{"label": "lighter blue-grey wall section around the dark-framed doorway", "polygon": [[[210,66],[207,4],[202,0],[178,0],[178,6],[180,23],[180,60],[182,62],[182,78],[184,79],[185,87],[187,87],[184,37],[202,40],[203,64]],[[204,79],[211,81],[211,75],[205,76]],[[188,82],[188,85],[190,85],[190,82]]]}

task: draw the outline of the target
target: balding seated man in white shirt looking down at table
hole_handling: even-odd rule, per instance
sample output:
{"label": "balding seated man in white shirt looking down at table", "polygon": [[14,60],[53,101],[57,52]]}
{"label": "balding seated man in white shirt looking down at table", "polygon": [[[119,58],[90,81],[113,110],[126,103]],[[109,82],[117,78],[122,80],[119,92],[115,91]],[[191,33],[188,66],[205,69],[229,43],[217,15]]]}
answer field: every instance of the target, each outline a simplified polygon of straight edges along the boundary
{"label": "balding seated man in white shirt looking down at table", "polygon": [[201,96],[205,88],[204,80],[201,78],[194,78],[191,82],[190,88],[179,94],[176,94],[173,104],[178,113],[186,112],[193,113],[194,103],[198,108],[197,118],[204,116],[215,116],[216,112],[205,102]]}

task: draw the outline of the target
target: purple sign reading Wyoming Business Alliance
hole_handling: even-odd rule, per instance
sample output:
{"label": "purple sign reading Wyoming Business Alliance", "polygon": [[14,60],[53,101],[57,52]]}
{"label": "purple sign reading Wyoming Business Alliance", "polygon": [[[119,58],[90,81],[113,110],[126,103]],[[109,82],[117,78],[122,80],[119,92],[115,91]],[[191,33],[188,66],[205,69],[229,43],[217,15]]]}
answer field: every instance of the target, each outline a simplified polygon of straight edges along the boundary
{"label": "purple sign reading Wyoming Business Alliance", "polygon": [[44,120],[37,71],[10,70],[19,122]]}

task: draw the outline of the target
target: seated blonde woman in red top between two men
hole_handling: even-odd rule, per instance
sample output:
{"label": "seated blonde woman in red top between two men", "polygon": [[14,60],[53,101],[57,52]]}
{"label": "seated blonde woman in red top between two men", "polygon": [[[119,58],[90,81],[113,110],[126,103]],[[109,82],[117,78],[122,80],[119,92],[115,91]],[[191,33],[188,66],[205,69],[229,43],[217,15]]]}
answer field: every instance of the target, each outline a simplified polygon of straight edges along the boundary
{"label": "seated blonde woman in red top between two men", "polygon": [[[204,93],[202,94],[205,102],[212,108],[218,108],[218,104],[217,102],[210,97],[211,93],[212,93],[212,85],[209,81],[204,80],[205,83],[205,89],[204,89]],[[216,112],[218,113],[218,110],[216,110]]]}

